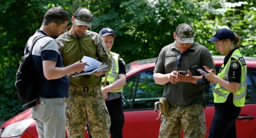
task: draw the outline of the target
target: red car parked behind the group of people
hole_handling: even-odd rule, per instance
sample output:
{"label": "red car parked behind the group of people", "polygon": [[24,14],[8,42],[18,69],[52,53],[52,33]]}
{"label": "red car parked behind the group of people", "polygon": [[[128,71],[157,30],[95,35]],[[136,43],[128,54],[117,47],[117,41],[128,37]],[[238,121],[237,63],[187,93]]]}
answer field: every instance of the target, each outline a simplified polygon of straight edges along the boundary
{"label": "red car parked behind the group of people", "polygon": [[[223,56],[214,56],[216,70],[223,63]],[[245,106],[242,107],[236,121],[238,138],[256,138],[256,58],[245,57],[247,64],[247,94]],[[123,107],[125,123],[124,138],[158,137],[160,120],[154,113],[154,103],[162,97],[164,85],[156,85],[153,78],[156,58],[131,62],[126,65],[127,81],[124,86]],[[214,85],[205,86],[204,110],[207,134],[214,115]],[[85,127],[86,128],[86,127]],[[86,137],[87,131],[85,131]],[[0,138],[37,138],[36,123],[31,119],[30,110],[26,110],[6,121],[0,129]]]}

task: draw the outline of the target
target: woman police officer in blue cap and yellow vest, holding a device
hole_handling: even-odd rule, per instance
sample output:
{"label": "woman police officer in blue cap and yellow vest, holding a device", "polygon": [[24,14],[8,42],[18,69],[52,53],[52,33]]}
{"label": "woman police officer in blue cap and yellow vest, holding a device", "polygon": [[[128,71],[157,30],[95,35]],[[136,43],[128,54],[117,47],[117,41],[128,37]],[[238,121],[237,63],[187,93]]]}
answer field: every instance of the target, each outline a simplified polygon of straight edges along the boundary
{"label": "woman police officer in blue cap and yellow vest, holding a device", "polygon": [[212,88],[215,113],[208,138],[236,138],[236,119],[244,106],[246,96],[246,63],[236,48],[240,38],[232,31],[218,30],[207,42],[214,42],[215,48],[225,54],[218,76],[204,66],[209,74],[203,74],[216,83]]}

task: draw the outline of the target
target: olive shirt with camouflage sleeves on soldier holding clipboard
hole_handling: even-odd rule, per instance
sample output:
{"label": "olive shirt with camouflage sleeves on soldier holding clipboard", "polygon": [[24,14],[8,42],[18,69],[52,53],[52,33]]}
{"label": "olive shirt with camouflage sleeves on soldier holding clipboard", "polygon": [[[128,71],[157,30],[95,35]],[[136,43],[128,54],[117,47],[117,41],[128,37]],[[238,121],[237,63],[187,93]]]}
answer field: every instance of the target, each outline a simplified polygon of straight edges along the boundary
{"label": "olive shirt with camouflage sleeves on soldier holding clipboard", "polygon": [[[66,33],[61,34],[57,39],[59,44],[60,54],[63,57],[63,66],[69,66],[78,60],[82,60],[85,56],[94,58],[102,64],[100,67],[109,66],[103,71],[105,74],[111,68],[111,58],[108,50],[98,33],[86,30],[83,35],[76,36],[71,34],[69,30],[72,26],[66,28]],[[86,68],[86,67],[85,67]],[[69,76],[69,84],[75,87],[92,87],[101,84],[101,77],[95,75],[84,75],[73,78]]]}

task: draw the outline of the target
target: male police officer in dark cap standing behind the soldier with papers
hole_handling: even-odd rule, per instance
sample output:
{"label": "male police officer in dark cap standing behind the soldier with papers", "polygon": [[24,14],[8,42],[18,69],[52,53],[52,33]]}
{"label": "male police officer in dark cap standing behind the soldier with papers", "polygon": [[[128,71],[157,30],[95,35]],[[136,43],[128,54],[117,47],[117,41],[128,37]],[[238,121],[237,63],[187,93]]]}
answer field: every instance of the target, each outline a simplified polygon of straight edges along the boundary
{"label": "male police officer in dark cap standing behind the soldier with papers", "polygon": [[[110,51],[116,37],[114,30],[106,27],[101,29],[99,34],[104,41],[108,49],[108,53],[112,59],[111,70],[108,72],[108,75],[103,76],[101,79],[103,86],[101,87],[101,91],[105,98],[105,103],[111,120],[109,131],[112,138],[123,138],[122,130],[124,126],[124,112],[122,106],[122,96],[123,87],[126,84],[125,62],[119,54]],[[92,138],[88,125],[87,131],[89,138]]]}

